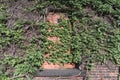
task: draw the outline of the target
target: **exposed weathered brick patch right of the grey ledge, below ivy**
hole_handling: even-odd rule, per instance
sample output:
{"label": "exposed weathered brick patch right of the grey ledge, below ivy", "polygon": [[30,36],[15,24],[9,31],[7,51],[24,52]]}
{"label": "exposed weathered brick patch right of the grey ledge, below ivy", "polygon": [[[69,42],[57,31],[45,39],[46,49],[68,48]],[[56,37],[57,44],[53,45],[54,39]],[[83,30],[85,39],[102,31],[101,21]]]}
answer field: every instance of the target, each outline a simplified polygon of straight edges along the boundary
{"label": "exposed weathered brick patch right of the grey ledge, below ivy", "polygon": [[118,80],[118,67],[112,63],[97,64],[87,73],[90,80]]}

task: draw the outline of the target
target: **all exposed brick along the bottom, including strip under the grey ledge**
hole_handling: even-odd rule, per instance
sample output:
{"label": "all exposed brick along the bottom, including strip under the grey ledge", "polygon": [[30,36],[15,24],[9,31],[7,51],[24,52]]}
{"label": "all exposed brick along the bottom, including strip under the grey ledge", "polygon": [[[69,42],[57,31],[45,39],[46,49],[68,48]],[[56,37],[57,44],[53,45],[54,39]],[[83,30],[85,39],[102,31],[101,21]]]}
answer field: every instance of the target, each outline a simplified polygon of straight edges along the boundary
{"label": "all exposed brick along the bottom, including strip under the grey ledge", "polygon": [[[119,80],[119,67],[110,63],[96,64],[87,72],[87,80]],[[82,77],[36,77],[33,80],[83,80]]]}

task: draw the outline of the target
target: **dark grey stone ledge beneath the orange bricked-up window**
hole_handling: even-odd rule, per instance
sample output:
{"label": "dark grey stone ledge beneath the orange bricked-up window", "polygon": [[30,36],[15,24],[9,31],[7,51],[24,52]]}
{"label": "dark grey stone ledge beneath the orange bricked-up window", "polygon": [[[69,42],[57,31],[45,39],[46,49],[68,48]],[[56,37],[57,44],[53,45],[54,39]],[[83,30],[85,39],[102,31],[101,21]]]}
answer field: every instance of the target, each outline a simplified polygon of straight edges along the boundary
{"label": "dark grey stone ledge beneath the orange bricked-up window", "polygon": [[45,69],[42,71],[37,71],[35,73],[36,77],[68,77],[74,75],[80,75],[81,71],[79,69]]}

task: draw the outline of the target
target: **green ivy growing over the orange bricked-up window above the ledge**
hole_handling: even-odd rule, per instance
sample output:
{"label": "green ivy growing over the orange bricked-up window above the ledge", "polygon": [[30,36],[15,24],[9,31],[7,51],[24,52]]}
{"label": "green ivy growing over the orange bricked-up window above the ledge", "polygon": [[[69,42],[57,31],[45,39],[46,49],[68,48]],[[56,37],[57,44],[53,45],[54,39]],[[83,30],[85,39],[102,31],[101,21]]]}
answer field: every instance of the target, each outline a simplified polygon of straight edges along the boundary
{"label": "green ivy growing over the orange bricked-up window above the ledge", "polygon": [[[40,26],[40,30],[42,33],[42,50],[43,54],[47,53],[50,54],[51,57],[46,58],[48,62],[53,63],[68,63],[72,62],[72,55],[67,54],[67,51],[70,49],[71,44],[71,32],[69,27],[69,22],[60,22],[59,25],[50,25],[49,23],[42,24]],[[62,26],[62,28],[58,28],[58,26]],[[51,29],[51,32],[48,32],[48,29]],[[57,29],[58,28],[58,29]],[[60,38],[60,44],[54,43],[52,41],[49,41],[47,37],[59,37]],[[44,39],[43,39],[44,38]],[[48,48],[48,46],[52,46],[52,48]],[[60,58],[60,59],[58,59]]]}

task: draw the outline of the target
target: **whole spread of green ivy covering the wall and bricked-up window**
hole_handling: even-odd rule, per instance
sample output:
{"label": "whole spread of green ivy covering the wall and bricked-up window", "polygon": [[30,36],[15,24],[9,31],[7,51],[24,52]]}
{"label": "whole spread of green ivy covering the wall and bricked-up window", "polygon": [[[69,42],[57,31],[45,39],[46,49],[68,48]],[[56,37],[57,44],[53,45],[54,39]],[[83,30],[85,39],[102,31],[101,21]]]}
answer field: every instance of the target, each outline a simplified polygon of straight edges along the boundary
{"label": "whole spread of green ivy covering the wall and bricked-up window", "polygon": [[[37,11],[45,17],[49,11],[66,13],[69,20],[61,21],[57,26],[47,22],[30,22],[18,20],[9,28],[6,23],[7,6],[0,5],[0,50],[4,54],[0,60],[0,77],[2,80],[24,80],[37,69],[42,69],[45,60],[58,63],[79,63],[86,58],[87,63],[106,63],[108,60],[120,64],[120,1],[119,0],[35,0],[29,11]],[[25,25],[30,25],[26,27]],[[71,30],[69,26],[71,25]],[[64,26],[64,30],[54,30]],[[48,32],[48,28],[53,31]],[[27,31],[35,31],[26,45]],[[46,39],[46,36],[59,36],[61,45]],[[43,58],[49,52],[48,45],[53,45],[52,57]],[[16,54],[6,54],[6,50],[17,47]],[[63,54],[71,47],[71,54]],[[59,54],[58,54],[59,53]],[[62,56],[62,60],[58,59]],[[91,66],[91,65],[89,65]],[[88,66],[88,67],[89,67]]]}

